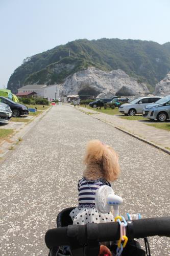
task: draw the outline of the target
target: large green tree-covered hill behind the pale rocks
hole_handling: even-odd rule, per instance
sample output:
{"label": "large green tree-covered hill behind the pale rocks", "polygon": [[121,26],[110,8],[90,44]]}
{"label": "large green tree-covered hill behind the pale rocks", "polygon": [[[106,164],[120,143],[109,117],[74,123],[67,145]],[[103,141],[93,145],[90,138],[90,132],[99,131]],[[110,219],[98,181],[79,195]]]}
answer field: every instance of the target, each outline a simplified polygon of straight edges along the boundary
{"label": "large green tree-covered hill behind the pale rocks", "polygon": [[170,70],[170,42],[102,38],[79,39],[23,60],[11,75],[8,89],[16,93],[23,84],[61,83],[89,66],[111,71],[122,69],[155,87]]}

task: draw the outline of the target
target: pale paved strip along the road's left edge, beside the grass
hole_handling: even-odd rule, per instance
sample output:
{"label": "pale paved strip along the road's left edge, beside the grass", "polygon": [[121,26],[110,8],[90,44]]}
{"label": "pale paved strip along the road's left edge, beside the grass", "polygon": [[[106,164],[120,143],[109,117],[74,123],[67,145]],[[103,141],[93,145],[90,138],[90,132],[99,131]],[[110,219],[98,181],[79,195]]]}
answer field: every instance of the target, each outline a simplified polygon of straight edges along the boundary
{"label": "pale paved strip along the road's left edge, beside the grass", "polygon": [[[13,145],[16,145],[16,138],[15,136],[17,135],[17,137],[21,137],[23,138],[46,114],[48,111],[50,111],[52,108],[52,106],[50,106],[50,108],[48,108],[47,110],[43,111],[42,114],[40,114],[37,118],[35,117],[28,125],[26,125],[25,127],[22,128],[22,130],[18,133],[14,133],[13,136],[10,138],[10,140],[13,140],[11,142],[11,146]],[[4,141],[2,144],[1,144],[1,148],[3,147],[3,145],[6,143],[6,141]],[[19,145],[19,144],[18,144]],[[14,148],[15,149],[15,148]],[[12,153],[12,150],[5,150],[4,153],[0,154],[0,164],[3,163],[6,158]]]}

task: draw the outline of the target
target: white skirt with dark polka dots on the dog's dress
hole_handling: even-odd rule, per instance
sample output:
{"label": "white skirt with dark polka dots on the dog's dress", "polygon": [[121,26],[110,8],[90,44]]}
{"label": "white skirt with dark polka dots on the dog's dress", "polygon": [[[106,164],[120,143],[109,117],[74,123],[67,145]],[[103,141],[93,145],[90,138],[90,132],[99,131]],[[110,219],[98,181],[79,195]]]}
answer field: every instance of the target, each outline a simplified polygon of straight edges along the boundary
{"label": "white skirt with dark polka dots on the dog's dress", "polygon": [[96,208],[76,207],[70,212],[73,224],[84,225],[87,223],[114,222],[112,212],[101,214]]}

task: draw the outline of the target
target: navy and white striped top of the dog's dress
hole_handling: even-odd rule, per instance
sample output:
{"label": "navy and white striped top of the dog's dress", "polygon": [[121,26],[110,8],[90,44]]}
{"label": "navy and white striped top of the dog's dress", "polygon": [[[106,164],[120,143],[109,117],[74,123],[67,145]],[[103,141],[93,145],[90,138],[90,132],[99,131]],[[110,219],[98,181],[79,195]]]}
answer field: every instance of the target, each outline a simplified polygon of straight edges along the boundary
{"label": "navy and white striped top of the dog's dress", "polygon": [[79,206],[78,207],[89,207],[95,206],[94,198],[98,188],[103,185],[111,186],[110,183],[104,179],[98,180],[87,180],[83,177],[79,180],[78,191],[79,191]]}

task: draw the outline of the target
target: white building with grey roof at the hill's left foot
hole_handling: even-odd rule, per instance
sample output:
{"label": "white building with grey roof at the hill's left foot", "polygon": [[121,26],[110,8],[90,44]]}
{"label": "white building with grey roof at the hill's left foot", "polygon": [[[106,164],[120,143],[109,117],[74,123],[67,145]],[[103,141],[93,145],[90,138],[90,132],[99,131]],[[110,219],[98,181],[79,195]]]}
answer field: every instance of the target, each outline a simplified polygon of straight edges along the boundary
{"label": "white building with grey roof at the hill's left foot", "polygon": [[57,84],[47,86],[46,84],[28,84],[18,89],[18,93],[36,92],[37,96],[42,98],[60,99],[60,92]]}

